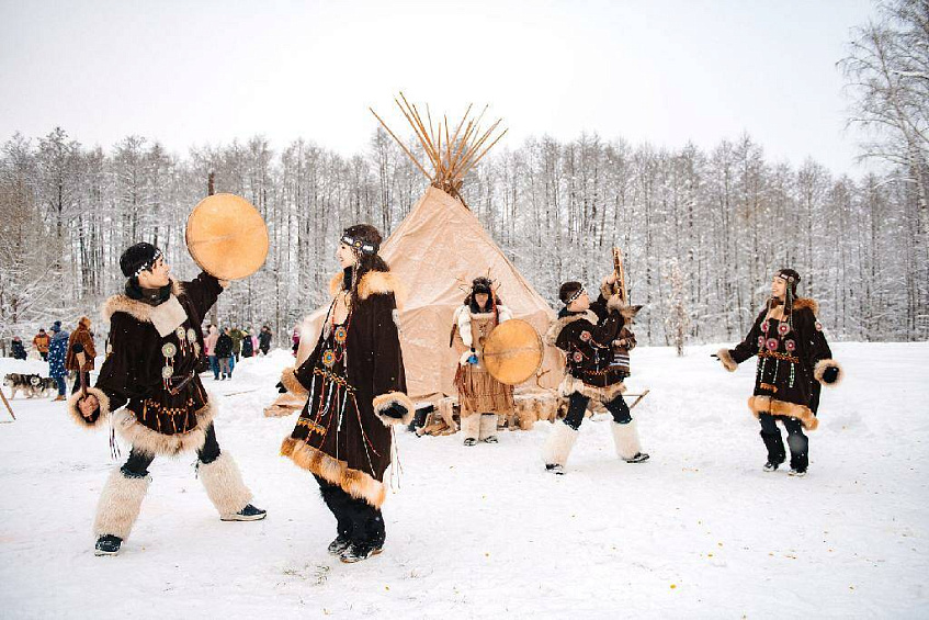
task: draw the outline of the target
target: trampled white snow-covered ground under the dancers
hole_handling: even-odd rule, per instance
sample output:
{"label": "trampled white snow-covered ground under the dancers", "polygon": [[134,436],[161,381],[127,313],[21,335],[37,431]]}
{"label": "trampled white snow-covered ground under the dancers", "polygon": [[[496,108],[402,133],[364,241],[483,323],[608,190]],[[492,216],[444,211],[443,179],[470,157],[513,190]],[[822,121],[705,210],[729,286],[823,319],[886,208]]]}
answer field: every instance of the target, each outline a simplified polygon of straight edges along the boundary
{"label": "trampled white snow-covered ground under the dancers", "polygon": [[[264,521],[220,522],[193,454],[156,460],[133,536],[95,557],[105,432],[61,403],[13,401],[0,425],[0,610],[4,618],[915,618],[929,616],[929,343],[839,343],[805,478],[761,472],[764,448],[735,375],[693,347],[633,356],[645,464],[616,460],[588,419],[568,474],[543,471],[550,431],[498,446],[398,433],[387,544],[343,565],[311,476],[277,456],[294,418],[262,408],[292,358],[245,360],[220,403],[220,446]],[[11,360],[2,373],[15,370]],[[7,420],[5,412],[0,419]],[[124,450],[124,456],[125,456]]]}

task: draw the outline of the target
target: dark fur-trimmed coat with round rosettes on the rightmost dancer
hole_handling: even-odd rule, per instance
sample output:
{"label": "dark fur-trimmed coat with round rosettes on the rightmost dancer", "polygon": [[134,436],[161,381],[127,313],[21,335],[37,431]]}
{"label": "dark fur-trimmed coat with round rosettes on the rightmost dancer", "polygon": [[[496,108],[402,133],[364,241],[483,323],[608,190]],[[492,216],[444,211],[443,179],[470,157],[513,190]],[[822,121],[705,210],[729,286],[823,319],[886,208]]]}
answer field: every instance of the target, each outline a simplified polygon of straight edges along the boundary
{"label": "dark fur-trimmed coat with round rosettes on the rightmost dancer", "polygon": [[[807,430],[815,430],[819,425],[816,413],[820,385],[837,385],[842,371],[832,359],[823,325],[816,319],[818,309],[818,304],[806,297],[794,300],[789,312],[783,305],[766,307],[745,340],[716,353],[729,372],[758,356],[755,391],[748,399],[756,418],[760,414],[792,417]],[[838,372],[831,383],[825,380],[828,368]]]}

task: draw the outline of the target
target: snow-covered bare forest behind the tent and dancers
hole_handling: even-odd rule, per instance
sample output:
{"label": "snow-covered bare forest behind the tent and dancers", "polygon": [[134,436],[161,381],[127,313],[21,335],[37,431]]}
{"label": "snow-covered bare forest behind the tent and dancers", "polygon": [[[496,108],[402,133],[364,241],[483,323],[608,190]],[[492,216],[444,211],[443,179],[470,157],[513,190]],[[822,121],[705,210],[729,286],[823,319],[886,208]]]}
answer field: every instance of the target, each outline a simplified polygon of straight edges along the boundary
{"label": "snow-covered bare forest behind the tent and dancers", "polygon": [[[868,136],[862,156],[881,172],[853,178],[814,160],[774,161],[748,135],[710,149],[543,135],[502,143],[462,193],[553,304],[564,280],[593,286],[612,268],[610,248],[621,247],[632,301],[646,305],[643,342],[671,343],[683,318],[689,343],[732,341],[763,303],[772,271],[788,266],[834,338],[926,339],[927,42],[925,2],[894,2],[839,63],[850,124]],[[271,235],[264,268],[223,296],[218,318],[267,323],[281,338],[322,301],[340,230],[369,222],[386,236],[426,183],[379,128],[352,156],[311,137],[277,149],[254,136],[172,154],[157,136],[101,147],[60,127],[16,134],[0,154],[3,346],[95,312],[121,289],[118,257],[135,241],[158,245],[175,273],[193,275],[184,226],[211,177],[216,192],[251,201]],[[452,235],[449,250],[468,248]]]}

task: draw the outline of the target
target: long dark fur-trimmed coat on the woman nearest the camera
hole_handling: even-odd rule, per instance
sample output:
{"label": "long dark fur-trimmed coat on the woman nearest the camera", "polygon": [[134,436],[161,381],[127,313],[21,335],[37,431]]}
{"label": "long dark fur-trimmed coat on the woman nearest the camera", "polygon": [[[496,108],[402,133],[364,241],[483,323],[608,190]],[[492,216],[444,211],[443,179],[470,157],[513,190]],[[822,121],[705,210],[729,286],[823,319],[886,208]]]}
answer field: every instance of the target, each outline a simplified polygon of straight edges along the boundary
{"label": "long dark fur-trimmed coat on the woman nearest the camera", "polygon": [[[415,413],[397,327],[404,292],[389,271],[369,271],[345,325],[333,326],[335,297],[343,290],[339,273],[316,347],[298,369],[281,376],[290,392],[307,398],[281,454],[379,508],[387,495],[390,426],[409,424]],[[394,405],[405,409],[404,417],[390,417]]]}

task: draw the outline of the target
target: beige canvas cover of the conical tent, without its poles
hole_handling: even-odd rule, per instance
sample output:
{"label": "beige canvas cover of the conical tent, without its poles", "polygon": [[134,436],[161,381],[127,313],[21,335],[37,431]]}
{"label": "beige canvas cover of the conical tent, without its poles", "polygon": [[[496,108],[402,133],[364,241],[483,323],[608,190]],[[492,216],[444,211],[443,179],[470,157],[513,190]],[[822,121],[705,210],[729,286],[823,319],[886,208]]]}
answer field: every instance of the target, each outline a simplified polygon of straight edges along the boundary
{"label": "beige canvas cover of the conical tent, without its poles", "polygon": [[[499,285],[502,303],[545,334],[555,314],[507,259],[477,217],[460,201],[430,187],[409,215],[381,247],[381,256],[407,288],[400,311],[400,343],[412,398],[454,395],[458,356],[449,347],[452,316],[462,305],[471,281],[487,275]],[[307,317],[301,332],[297,360],[316,347],[326,307]],[[545,347],[540,383],[556,387],[562,377],[562,356]],[[548,371],[548,372],[545,372]],[[535,379],[526,382],[535,385]]]}

